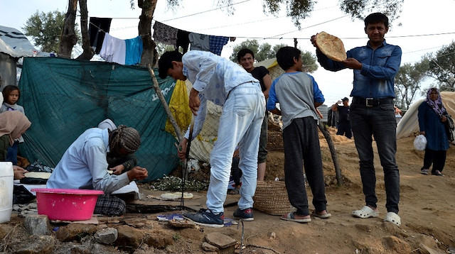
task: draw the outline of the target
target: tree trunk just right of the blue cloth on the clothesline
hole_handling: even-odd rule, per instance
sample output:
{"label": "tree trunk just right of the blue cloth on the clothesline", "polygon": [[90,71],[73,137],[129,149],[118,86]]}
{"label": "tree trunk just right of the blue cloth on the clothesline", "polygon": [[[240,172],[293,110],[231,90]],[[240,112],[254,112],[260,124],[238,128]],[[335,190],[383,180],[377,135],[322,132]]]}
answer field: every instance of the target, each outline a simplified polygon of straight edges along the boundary
{"label": "tree trunk just right of the blue cloth on the clothesline", "polygon": [[155,42],[151,40],[151,19],[154,16],[156,9],[156,1],[158,0],[138,0],[137,6],[142,9],[141,16],[139,16],[139,35],[142,38],[143,51],[140,65],[146,66],[150,64],[152,67],[156,63],[158,53],[155,49]]}

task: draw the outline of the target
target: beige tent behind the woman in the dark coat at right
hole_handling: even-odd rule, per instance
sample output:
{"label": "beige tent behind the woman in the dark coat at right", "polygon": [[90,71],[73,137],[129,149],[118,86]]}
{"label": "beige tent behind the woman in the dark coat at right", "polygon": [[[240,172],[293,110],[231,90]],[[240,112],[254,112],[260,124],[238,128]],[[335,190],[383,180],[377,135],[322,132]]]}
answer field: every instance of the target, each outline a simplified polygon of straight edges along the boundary
{"label": "beige tent behind the woman in the dark coat at right", "polygon": [[[454,117],[455,116],[455,92],[441,92],[442,104],[447,109],[447,112]],[[417,114],[419,113],[419,106],[422,104],[424,99],[411,104],[410,108],[406,111],[406,114],[401,118],[400,123],[397,125],[397,139],[409,137],[412,134],[419,132],[419,119]]]}

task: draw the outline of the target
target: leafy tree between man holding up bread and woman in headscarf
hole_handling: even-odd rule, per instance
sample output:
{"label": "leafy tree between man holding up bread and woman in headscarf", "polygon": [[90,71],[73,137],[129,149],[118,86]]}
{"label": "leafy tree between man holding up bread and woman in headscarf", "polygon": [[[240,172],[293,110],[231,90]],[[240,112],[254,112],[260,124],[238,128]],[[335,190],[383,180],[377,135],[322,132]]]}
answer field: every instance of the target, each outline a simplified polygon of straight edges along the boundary
{"label": "leafy tree between man holding up bread and woman in headscarf", "polygon": [[405,63],[400,67],[395,77],[395,101],[401,109],[409,109],[417,92],[421,90],[422,82],[427,78],[429,59],[423,57],[422,61],[414,65]]}

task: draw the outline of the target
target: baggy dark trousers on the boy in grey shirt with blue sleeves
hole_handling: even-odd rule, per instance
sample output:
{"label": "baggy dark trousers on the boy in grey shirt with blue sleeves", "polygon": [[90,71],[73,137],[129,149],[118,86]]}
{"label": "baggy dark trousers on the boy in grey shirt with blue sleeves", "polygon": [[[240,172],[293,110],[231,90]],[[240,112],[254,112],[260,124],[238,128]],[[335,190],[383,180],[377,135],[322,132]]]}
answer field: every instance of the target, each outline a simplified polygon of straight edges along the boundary
{"label": "baggy dark trousers on the boy in grey shirt with blue sleeves", "polygon": [[283,130],[284,180],[289,202],[300,216],[309,215],[303,168],[313,192],[316,211],[326,210],[326,189],[322,172],[321,148],[316,120],[296,118]]}

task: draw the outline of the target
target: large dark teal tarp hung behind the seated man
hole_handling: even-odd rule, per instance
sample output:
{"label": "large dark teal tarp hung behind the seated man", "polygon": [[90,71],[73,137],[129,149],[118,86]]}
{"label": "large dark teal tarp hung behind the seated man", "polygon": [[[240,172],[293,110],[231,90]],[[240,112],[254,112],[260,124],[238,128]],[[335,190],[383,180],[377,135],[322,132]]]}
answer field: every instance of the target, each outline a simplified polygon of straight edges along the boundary
{"label": "large dark teal tarp hung behind the seated man", "polygon": [[[157,80],[168,102],[175,82]],[[141,134],[136,155],[139,165],[149,172],[144,181],[168,175],[178,165],[176,138],[164,130],[166,112],[144,67],[26,57],[19,88],[18,104],[32,122],[20,150],[30,161],[55,167],[81,133],[109,118]]]}

